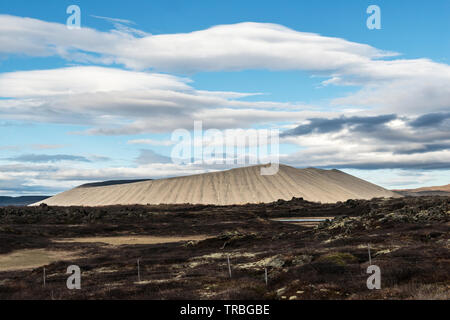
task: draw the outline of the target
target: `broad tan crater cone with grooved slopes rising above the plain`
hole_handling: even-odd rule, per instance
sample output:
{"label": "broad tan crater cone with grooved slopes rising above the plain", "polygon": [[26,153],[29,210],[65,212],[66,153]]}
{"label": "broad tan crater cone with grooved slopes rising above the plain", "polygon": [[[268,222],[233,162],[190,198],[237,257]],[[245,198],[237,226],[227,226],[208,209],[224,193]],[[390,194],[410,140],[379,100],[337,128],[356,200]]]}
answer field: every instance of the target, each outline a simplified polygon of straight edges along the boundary
{"label": "broad tan crater cone with grooved slopes rising above the plain", "polygon": [[400,195],[339,170],[296,169],[280,165],[275,175],[260,174],[261,165],[185,177],[105,186],[80,186],[34,205],[105,206],[131,204],[269,203],[302,197],[332,203],[348,199]]}

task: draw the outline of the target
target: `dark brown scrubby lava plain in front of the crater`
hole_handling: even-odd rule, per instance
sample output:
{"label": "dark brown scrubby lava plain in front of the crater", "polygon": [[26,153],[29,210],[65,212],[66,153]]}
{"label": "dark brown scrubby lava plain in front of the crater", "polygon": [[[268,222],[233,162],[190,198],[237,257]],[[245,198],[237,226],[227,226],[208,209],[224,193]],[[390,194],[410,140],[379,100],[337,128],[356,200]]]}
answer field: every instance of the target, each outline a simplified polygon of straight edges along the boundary
{"label": "dark brown scrubby lava plain in front of the crater", "polygon": [[[300,217],[328,219],[276,221]],[[449,299],[449,227],[441,196],[4,207],[0,299]],[[366,286],[368,248],[381,290]]]}

